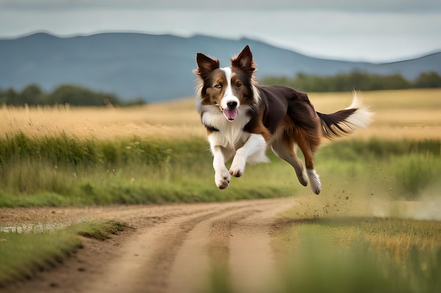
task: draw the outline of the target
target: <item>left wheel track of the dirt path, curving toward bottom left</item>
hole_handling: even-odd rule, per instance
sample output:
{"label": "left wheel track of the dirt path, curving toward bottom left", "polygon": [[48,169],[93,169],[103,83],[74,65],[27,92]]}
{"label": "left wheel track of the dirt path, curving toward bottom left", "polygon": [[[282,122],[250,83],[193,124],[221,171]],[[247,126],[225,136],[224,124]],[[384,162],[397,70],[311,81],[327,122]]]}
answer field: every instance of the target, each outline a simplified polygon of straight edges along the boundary
{"label": "left wheel track of the dirt path, curving toward bottom left", "polygon": [[110,264],[103,278],[87,284],[81,292],[164,292],[170,266],[185,235],[199,221],[221,212],[186,211],[156,226],[139,229],[137,235],[125,243],[123,254]]}

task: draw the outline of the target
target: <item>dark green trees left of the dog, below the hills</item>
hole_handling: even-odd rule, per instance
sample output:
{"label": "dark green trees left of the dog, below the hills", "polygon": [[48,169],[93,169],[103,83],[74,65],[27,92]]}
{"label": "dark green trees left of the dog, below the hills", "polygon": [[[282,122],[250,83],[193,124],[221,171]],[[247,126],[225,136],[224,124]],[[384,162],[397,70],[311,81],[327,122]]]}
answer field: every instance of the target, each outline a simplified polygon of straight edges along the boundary
{"label": "dark green trees left of the dog, below the hills", "polygon": [[0,105],[56,105],[106,106],[142,105],[142,99],[121,101],[113,93],[97,92],[82,86],[63,84],[54,91],[46,93],[38,84],[29,84],[21,91],[14,88],[0,89]]}

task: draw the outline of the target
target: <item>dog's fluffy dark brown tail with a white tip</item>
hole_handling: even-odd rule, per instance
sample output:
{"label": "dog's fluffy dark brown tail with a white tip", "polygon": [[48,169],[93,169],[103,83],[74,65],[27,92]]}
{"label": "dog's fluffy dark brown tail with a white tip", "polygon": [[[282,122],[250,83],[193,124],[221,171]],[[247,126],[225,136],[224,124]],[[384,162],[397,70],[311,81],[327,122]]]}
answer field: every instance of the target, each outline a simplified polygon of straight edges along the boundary
{"label": "dog's fluffy dark brown tail with a white tip", "polygon": [[344,134],[350,134],[357,128],[366,128],[371,123],[373,112],[361,104],[361,100],[354,91],[352,104],[333,114],[317,112],[321,119],[323,136],[333,139]]}

